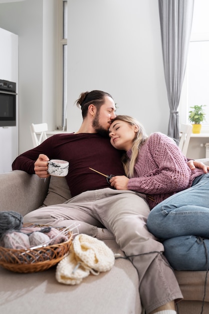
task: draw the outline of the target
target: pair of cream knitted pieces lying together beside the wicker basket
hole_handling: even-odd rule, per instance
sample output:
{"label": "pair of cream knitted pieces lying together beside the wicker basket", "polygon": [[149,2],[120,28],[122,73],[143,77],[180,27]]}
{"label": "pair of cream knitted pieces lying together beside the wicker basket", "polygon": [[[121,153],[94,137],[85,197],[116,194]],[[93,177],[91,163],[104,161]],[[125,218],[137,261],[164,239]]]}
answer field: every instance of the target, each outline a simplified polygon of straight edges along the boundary
{"label": "pair of cream knitted pieces lying together beside the wicker basket", "polygon": [[65,284],[78,284],[90,272],[98,275],[100,271],[110,270],[114,262],[114,253],[104,242],[79,234],[72,242],[69,255],[58,263],[56,279]]}

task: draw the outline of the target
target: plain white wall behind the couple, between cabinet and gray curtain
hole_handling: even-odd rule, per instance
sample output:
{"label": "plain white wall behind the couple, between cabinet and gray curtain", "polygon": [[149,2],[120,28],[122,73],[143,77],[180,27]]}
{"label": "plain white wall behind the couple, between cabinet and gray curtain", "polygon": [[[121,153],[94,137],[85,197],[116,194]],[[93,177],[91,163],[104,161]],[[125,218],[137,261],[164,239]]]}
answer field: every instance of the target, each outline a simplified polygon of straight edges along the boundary
{"label": "plain white wall behind the couple, between cabinet and gray curtain", "polygon": [[[134,115],[148,133],[167,133],[158,2],[68,0],[68,6],[67,130],[81,123],[74,105],[80,93],[101,89],[112,94],[118,113]],[[55,10],[56,0],[0,5],[0,27],[19,35],[19,153],[32,147],[32,122],[55,128]]]}

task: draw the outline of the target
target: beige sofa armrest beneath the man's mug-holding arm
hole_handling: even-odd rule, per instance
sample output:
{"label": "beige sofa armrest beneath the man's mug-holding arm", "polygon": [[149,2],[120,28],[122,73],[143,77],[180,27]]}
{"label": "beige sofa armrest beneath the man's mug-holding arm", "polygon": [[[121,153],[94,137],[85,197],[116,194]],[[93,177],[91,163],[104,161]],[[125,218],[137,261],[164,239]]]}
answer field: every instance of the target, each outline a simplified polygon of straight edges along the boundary
{"label": "beige sofa armrest beneath the man's mug-holding arm", "polygon": [[15,170],[0,174],[0,211],[16,211],[25,216],[42,206],[49,188],[49,179]]}

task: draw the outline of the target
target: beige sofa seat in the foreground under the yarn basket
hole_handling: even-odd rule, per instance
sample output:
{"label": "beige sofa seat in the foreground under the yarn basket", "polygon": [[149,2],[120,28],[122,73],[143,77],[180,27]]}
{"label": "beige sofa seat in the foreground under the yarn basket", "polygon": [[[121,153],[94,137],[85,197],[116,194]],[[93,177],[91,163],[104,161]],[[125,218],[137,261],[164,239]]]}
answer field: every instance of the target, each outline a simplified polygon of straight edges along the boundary
{"label": "beige sofa seat in the foreground under the yarn basket", "polygon": [[[114,240],[105,242],[120,252]],[[20,274],[0,267],[2,314],[140,314],[138,275],[127,259],[117,259],[110,271],[89,275],[76,286],[59,283],[56,267]]]}

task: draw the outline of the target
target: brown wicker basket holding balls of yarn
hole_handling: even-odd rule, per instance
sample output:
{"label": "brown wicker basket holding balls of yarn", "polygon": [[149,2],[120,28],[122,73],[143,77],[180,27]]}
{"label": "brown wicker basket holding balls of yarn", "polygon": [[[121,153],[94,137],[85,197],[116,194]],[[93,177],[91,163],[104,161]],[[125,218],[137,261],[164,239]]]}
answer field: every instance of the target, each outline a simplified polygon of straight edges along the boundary
{"label": "brown wicker basket holding balls of yarn", "polygon": [[0,265],[23,273],[46,270],[66,256],[72,243],[72,235],[69,231],[67,241],[34,249],[8,249],[0,246]]}

